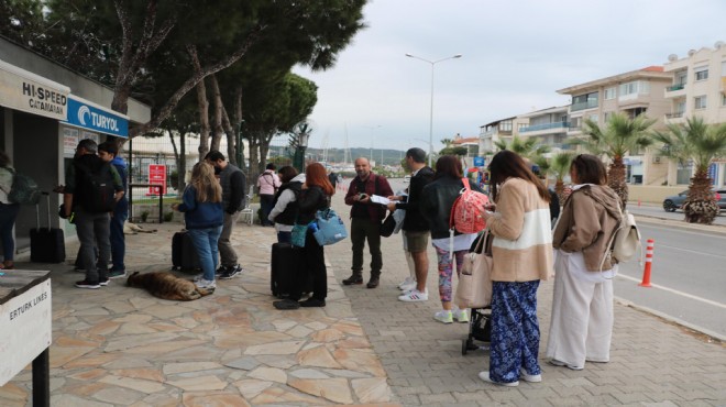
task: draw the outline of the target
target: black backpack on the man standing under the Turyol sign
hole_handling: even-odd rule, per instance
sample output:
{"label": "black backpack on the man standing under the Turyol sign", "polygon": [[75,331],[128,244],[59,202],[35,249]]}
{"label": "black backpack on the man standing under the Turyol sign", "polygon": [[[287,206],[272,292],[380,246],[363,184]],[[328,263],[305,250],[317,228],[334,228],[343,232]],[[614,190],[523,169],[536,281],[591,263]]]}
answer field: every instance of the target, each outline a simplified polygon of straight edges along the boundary
{"label": "black backpack on the man standing under the Turyol sign", "polygon": [[97,170],[91,170],[88,166],[76,163],[76,168],[80,172],[80,180],[76,185],[79,191],[80,206],[88,212],[102,213],[110,212],[116,206],[116,186],[113,185],[113,175],[110,163],[103,163]]}

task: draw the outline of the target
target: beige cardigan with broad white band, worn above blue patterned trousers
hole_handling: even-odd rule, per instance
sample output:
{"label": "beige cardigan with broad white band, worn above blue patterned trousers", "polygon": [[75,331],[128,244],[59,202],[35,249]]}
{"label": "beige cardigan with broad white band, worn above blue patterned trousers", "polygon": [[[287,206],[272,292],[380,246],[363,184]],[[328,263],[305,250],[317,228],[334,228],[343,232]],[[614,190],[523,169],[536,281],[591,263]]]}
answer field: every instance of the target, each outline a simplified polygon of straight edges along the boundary
{"label": "beige cardigan with broad white band, worn above blue patterned trousers", "polygon": [[521,178],[502,184],[496,212],[488,217],[494,240],[494,282],[531,282],[553,274],[550,207],[537,188]]}

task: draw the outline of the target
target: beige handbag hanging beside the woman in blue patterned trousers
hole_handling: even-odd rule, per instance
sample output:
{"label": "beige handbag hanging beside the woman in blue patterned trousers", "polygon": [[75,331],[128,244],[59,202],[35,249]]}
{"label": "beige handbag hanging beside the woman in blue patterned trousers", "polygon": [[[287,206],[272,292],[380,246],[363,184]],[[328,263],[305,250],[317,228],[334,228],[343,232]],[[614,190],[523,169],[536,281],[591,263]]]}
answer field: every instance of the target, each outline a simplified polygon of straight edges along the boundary
{"label": "beige handbag hanging beside the woman in blue patterned trousers", "polygon": [[[487,241],[490,230],[476,243],[473,252],[464,255],[454,302],[459,308],[484,308],[492,305],[492,254]],[[481,253],[477,253],[481,252]]]}

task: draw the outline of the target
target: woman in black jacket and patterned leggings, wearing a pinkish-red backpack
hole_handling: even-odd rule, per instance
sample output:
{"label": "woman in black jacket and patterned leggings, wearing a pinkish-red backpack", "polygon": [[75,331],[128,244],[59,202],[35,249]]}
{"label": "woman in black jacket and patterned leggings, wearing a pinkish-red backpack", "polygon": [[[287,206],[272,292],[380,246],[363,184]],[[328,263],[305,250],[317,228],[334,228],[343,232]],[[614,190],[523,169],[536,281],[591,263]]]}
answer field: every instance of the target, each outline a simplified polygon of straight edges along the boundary
{"label": "woman in black jacket and patterned leggings, wearing a pinkish-red backpack", "polygon": [[[459,309],[452,304],[453,267],[457,266],[457,276],[461,274],[464,255],[469,253],[477,233],[460,233],[454,231],[453,246],[450,242],[451,207],[464,188],[463,168],[454,155],[443,155],[436,162],[436,176],[433,182],[424,188],[421,199],[421,213],[429,222],[431,229],[431,243],[436,250],[439,264],[439,297],[441,310],[433,315],[433,319],[443,323],[469,322],[465,309]],[[471,189],[482,190],[472,183]],[[453,253],[451,252],[453,251]],[[452,258],[453,254],[453,258]]]}

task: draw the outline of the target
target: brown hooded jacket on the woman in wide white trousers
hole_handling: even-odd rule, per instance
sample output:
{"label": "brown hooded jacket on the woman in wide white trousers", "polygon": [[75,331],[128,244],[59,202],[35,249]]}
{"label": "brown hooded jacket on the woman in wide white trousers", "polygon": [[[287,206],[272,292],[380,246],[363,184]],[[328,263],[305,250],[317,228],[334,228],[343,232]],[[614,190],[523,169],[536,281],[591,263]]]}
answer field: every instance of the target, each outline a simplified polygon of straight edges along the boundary
{"label": "brown hooded jacket on the woman in wide white trousers", "polygon": [[619,205],[620,199],[607,186],[585,185],[573,190],[564,201],[552,245],[568,253],[582,252],[590,272],[600,271],[603,256],[603,270],[613,268],[606,245],[620,224]]}

